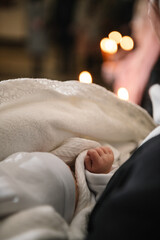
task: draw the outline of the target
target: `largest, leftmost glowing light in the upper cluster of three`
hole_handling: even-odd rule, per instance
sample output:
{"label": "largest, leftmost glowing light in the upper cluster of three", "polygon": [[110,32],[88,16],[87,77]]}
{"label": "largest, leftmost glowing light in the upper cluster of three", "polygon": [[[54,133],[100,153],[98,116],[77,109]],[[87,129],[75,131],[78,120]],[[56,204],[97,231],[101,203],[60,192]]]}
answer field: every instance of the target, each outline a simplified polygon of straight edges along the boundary
{"label": "largest, leftmost glowing light in the upper cluster of three", "polygon": [[109,38],[103,38],[100,42],[100,48],[103,52],[114,54],[118,50],[118,46],[115,40]]}

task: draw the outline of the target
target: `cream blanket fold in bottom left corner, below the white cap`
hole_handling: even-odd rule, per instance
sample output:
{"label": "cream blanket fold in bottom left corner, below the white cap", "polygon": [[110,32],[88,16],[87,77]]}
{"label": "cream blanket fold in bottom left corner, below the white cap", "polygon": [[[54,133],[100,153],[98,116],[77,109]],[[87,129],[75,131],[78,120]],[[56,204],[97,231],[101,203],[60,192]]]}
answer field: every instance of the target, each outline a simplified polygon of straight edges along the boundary
{"label": "cream blanket fold in bottom left corner, below the white cap", "polygon": [[50,206],[21,211],[0,222],[1,240],[66,239],[68,225]]}

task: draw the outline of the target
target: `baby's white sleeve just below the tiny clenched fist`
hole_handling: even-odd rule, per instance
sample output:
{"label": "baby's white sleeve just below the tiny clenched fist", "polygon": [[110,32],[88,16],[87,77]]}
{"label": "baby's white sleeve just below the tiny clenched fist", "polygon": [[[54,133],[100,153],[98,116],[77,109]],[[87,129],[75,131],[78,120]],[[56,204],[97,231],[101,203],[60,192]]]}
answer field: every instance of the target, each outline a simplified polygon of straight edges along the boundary
{"label": "baby's white sleeve just below the tiny clenched fist", "polygon": [[109,173],[91,173],[88,170],[85,170],[86,180],[90,191],[95,194],[96,200],[100,197],[104,189],[106,188],[110,178],[118,169],[117,165],[112,165],[112,169]]}

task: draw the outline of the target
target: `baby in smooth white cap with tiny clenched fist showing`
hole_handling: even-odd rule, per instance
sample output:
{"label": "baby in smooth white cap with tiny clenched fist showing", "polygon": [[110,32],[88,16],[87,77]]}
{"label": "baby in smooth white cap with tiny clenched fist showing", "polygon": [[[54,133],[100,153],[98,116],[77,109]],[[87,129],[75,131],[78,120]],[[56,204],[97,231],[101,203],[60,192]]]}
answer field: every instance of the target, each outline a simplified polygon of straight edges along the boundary
{"label": "baby in smooth white cap with tiny clenched fist showing", "polygon": [[[96,187],[88,179],[97,175],[106,178],[113,161],[109,147],[88,150],[84,165],[86,180],[93,193],[97,193]],[[70,168],[57,156],[46,152],[12,154],[0,162],[0,177],[0,217],[38,205],[50,205],[68,223],[72,220],[78,187]],[[106,183],[100,192],[105,186]]]}

